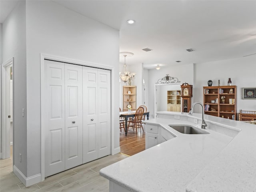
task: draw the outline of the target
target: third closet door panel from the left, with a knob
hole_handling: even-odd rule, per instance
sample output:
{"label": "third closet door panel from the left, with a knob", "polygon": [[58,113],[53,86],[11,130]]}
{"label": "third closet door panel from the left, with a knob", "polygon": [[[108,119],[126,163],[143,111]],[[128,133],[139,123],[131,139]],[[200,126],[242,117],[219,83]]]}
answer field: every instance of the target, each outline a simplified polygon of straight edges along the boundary
{"label": "third closet door panel from the left, with a knob", "polygon": [[98,69],[83,66],[83,163],[98,158]]}

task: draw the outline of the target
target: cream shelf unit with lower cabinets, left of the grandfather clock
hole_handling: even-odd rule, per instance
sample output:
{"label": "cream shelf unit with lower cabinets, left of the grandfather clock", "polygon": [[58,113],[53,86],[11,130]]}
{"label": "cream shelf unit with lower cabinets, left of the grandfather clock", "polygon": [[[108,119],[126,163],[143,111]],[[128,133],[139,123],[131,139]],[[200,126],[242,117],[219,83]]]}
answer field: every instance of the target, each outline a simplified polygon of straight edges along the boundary
{"label": "cream shelf unit with lower cabinets, left of the grandfather clock", "polygon": [[180,112],[181,97],[180,90],[167,91],[167,111]]}

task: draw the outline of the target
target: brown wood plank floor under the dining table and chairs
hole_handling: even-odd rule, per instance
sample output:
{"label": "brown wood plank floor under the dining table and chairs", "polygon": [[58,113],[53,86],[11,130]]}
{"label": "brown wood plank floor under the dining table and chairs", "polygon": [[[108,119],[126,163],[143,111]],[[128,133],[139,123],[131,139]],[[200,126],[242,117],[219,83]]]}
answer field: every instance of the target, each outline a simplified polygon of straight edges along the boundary
{"label": "brown wood plank floor under the dining table and chairs", "polygon": [[122,132],[120,132],[120,152],[132,156],[144,151],[145,135],[142,129],[138,129],[138,134],[136,134],[136,130],[133,131],[132,128],[129,128],[127,136],[125,136],[124,130],[122,129]]}

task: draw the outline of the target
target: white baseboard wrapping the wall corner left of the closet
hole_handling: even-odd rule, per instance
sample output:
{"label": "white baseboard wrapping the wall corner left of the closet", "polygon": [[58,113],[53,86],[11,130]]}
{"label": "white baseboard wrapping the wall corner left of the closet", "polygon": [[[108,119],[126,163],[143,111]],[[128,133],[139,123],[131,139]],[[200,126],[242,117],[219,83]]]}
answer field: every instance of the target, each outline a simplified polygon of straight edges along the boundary
{"label": "white baseboard wrapping the wall corner left of the closet", "polygon": [[41,182],[41,174],[26,177],[15,165],[13,166],[13,172],[26,187]]}

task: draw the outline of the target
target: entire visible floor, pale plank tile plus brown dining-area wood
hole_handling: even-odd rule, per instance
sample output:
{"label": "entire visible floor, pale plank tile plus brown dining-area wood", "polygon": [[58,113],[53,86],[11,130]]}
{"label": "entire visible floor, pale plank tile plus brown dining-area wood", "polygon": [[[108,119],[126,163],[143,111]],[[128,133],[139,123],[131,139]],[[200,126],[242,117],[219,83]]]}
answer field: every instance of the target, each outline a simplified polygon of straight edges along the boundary
{"label": "entire visible floor, pale plank tile plus brown dining-area wood", "polygon": [[[11,158],[0,160],[1,192],[109,192],[109,181],[100,176],[100,169],[145,150],[145,134],[130,129],[127,137],[120,132],[121,153],[77,166],[25,187],[12,171]],[[12,147],[11,147],[12,149]],[[12,152],[11,152],[12,154]],[[126,155],[124,155],[126,154]],[[127,156],[128,155],[128,156]]]}

